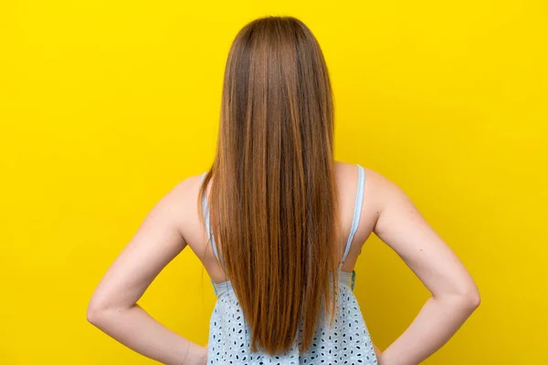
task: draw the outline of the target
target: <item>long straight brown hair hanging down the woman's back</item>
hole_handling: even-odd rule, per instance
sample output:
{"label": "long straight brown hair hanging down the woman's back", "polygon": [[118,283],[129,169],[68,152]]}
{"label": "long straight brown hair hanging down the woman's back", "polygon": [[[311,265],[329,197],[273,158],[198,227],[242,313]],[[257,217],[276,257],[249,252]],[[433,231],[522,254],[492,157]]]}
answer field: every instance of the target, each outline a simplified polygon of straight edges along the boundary
{"label": "long straight brown hair hanging down the woman's back", "polygon": [[333,170],[332,88],[316,38],[294,17],[249,23],[228,54],[198,211],[211,181],[211,234],[252,351],[279,354],[301,330],[304,353],[322,306],[333,318],[342,255]]}

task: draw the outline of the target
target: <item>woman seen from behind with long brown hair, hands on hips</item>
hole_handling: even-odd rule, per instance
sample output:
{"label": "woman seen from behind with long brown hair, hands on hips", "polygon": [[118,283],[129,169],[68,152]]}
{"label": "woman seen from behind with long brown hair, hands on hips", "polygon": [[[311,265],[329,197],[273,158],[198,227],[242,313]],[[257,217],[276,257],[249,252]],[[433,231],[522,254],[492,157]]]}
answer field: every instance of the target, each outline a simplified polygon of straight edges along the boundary
{"label": "woman seen from behind with long brown hair, hands on hips", "polygon": [[[432,293],[382,353],[353,296],[353,267],[373,232]],[[186,245],[218,297],[206,347],[136,304]],[[401,189],[333,161],[321,48],[299,20],[266,17],[245,26],[228,55],[211,169],[153,207],[101,280],[88,318],[166,364],[405,365],[439,349],[478,305],[469,273]]]}

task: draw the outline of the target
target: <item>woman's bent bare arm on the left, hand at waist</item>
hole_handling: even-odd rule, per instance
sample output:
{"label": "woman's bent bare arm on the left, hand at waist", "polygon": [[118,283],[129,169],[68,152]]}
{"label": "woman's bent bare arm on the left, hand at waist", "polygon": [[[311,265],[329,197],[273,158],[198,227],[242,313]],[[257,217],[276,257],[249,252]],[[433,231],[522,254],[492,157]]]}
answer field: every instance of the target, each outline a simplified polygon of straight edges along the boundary
{"label": "woman's bent bare arm on the left, hand at waist", "polygon": [[188,180],[158,202],[95,289],[88,320],[123,345],[164,364],[205,364],[205,347],[184,339],[136,303],[163,267],[186,246],[180,227]]}

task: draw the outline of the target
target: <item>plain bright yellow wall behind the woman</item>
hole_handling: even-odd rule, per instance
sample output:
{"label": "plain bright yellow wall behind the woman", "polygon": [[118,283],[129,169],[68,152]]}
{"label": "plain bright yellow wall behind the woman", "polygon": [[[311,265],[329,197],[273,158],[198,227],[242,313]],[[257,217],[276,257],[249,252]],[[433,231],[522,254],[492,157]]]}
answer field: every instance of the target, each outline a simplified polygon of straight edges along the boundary
{"label": "plain bright yellow wall behind the woman", "polygon": [[[0,3],[0,363],[152,363],[85,318],[164,193],[212,161],[227,50],[256,16],[323,47],[336,149],[400,184],[482,305],[427,364],[548,363],[548,16],[538,1]],[[372,239],[356,293],[385,347],[427,292]],[[214,296],[185,250],[142,304],[205,344]]]}

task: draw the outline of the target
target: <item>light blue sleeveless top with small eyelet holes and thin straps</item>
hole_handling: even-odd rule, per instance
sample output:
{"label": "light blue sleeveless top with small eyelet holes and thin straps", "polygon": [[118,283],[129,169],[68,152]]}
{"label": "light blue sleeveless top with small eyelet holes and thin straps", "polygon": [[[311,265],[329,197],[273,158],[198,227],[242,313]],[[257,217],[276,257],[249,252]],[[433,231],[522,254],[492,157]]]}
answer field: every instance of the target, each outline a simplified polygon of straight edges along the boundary
{"label": "light blue sleeveless top with small eyelet holes and thin straps", "polygon": [[[358,190],[354,204],[353,223],[346,242],[342,263],[348,255],[353,235],[356,233],[362,202],[364,200],[364,168],[358,167]],[[202,181],[204,180],[205,173]],[[205,198],[205,196],[204,196]],[[209,214],[207,202],[203,202],[205,226],[209,235]],[[214,254],[218,258],[215,240],[211,239]],[[221,260],[222,262],[222,260]],[[341,264],[342,265],[342,264]],[[341,271],[341,266],[339,266]],[[341,271],[341,286],[338,297],[338,311],[335,314],[332,328],[329,318],[320,316],[311,346],[300,355],[300,336],[297,332],[292,347],[278,356],[262,352],[251,352],[251,332],[242,309],[239,306],[230,281],[214,283],[216,306],[210,318],[207,363],[214,364],[344,364],[372,365],[377,364],[373,343],[364,318],[353,295],[355,271]]]}

